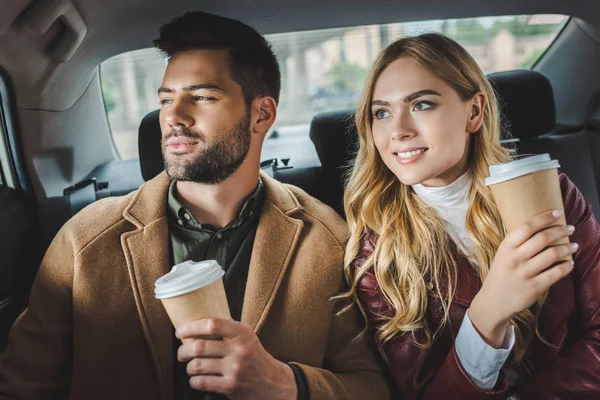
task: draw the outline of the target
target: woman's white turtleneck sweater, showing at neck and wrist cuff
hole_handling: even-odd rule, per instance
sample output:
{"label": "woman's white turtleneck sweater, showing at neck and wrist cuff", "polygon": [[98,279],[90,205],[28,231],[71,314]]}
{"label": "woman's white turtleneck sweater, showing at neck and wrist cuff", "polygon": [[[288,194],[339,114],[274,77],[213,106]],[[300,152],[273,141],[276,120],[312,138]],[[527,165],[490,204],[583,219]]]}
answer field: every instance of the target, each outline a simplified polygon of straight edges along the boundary
{"label": "woman's white turtleneck sweater, showing at neck and wrist cuff", "polygon": [[[469,189],[472,179],[467,172],[448,186],[427,187],[412,185],[421,200],[433,207],[446,223],[446,232],[456,243],[469,262],[477,264],[473,241],[466,226],[469,208]],[[456,354],[473,382],[481,389],[490,390],[496,385],[502,365],[505,363],[514,345],[514,327],[507,329],[504,345],[495,349],[479,335],[469,319],[468,310],[456,336]],[[516,399],[511,396],[510,399]]]}

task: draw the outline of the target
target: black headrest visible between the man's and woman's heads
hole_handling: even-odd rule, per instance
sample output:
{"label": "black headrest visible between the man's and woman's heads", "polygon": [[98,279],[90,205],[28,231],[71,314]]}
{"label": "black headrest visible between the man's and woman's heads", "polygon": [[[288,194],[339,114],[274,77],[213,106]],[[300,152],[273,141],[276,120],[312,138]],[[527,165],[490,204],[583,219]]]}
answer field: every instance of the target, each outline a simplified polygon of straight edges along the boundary
{"label": "black headrest visible between the man's and woman's heads", "polygon": [[345,165],[354,157],[358,144],[354,110],[315,115],[310,123],[310,139],[323,167],[337,168]]}

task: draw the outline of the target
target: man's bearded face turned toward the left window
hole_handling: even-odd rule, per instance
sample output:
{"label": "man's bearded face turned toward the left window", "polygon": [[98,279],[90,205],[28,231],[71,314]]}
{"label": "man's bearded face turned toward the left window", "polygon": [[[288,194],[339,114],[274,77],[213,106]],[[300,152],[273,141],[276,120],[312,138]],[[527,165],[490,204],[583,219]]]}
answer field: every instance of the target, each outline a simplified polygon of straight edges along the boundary
{"label": "man's bearded face turned toward the left window", "polygon": [[230,75],[226,50],[171,57],[158,91],[162,152],[171,178],[215,184],[242,165],[250,149],[250,114]]}

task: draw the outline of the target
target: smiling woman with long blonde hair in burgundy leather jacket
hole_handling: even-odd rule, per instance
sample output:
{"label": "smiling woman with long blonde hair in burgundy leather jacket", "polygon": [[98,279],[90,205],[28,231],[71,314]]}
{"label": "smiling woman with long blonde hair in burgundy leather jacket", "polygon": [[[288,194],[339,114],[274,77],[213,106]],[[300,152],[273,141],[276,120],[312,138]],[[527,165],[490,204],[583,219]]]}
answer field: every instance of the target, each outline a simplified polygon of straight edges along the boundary
{"label": "smiling woman with long blonde hair in burgundy leather jacket", "polygon": [[437,34],[392,43],[356,122],[342,297],[399,398],[600,398],[600,226],[561,174],[568,225],[548,211],[505,234],[484,178],[511,154],[473,58]]}

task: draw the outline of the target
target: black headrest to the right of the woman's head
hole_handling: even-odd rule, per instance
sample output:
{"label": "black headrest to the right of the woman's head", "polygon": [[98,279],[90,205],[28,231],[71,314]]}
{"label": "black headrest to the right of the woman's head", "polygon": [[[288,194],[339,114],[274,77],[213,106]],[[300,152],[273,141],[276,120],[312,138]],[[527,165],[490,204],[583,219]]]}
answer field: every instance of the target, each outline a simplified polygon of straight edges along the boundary
{"label": "black headrest to the right of the woman's head", "polygon": [[528,139],[551,132],[556,123],[554,94],[548,78],[516,70],[488,75],[513,137]]}

